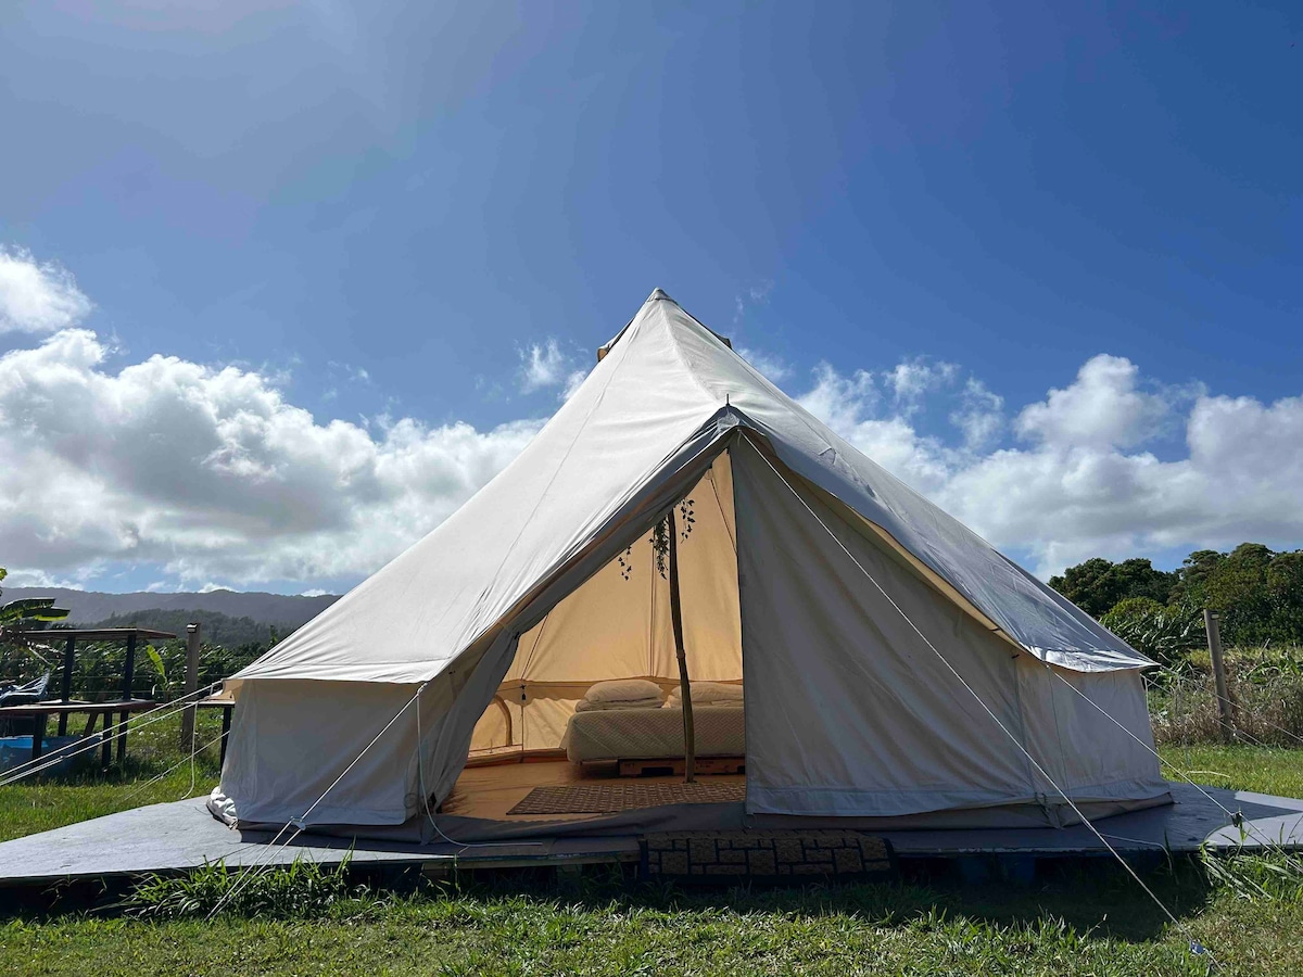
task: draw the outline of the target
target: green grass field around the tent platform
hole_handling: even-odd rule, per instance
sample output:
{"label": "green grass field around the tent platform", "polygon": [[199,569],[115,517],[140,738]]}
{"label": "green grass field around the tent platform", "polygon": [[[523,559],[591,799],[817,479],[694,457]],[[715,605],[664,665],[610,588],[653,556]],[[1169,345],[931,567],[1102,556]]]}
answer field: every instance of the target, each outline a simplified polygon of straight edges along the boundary
{"label": "green grass field around the tent platform", "polygon": [[[203,718],[201,741],[215,736]],[[0,838],[43,831],[192,792],[175,722],[132,733],[134,759],[109,779],[0,788]],[[1303,793],[1303,752],[1167,746],[1208,783]],[[216,779],[215,750],[193,792]],[[1035,886],[949,878],[891,886],[683,892],[584,878],[564,888],[520,878],[493,887],[347,891],[288,917],[145,920],[121,912],[0,920],[0,973],[177,974],[1231,974],[1303,973],[1303,886],[1270,864],[1272,898],[1212,883],[1178,862],[1145,875],[1182,933],[1106,862]]]}

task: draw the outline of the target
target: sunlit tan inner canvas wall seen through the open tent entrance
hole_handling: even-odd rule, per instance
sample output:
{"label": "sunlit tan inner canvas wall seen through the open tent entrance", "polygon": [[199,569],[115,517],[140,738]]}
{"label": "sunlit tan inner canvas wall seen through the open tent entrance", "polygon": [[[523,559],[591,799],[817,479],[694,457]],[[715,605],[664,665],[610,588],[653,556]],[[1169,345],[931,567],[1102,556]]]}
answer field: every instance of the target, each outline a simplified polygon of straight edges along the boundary
{"label": "sunlit tan inner canvas wall seen through the open tent entrance", "polygon": [[[688,673],[693,683],[741,687],[737,530],[728,452],[714,459],[675,507],[675,516]],[[619,759],[681,762],[681,728],[678,746],[674,741],[681,709],[676,707],[680,676],[667,569],[666,555],[662,551],[658,556],[649,530],[523,633],[507,675],[476,724],[468,766],[555,759],[582,763],[599,776],[603,765]],[[628,700],[619,698],[585,703],[598,683],[619,680],[654,685],[655,707],[663,711],[649,715],[628,709]],[[640,694],[638,688],[650,690],[638,683],[628,688],[635,690],[629,696]],[[614,694],[624,693],[615,689]],[[588,727],[572,729],[577,710],[581,716],[594,715],[584,716],[592,720]],[[697,754],[711,759],[724,750],[740,763],[740,696],[728,716],[713,715],[710,705],[698,705],[697,713]],[[731,719],[734,729],[718,728]],[[627,743],[620,744],[620,737]],[[577,772],[566,776],[573,779]],[[503,772],[498,779],[507,776]]]}

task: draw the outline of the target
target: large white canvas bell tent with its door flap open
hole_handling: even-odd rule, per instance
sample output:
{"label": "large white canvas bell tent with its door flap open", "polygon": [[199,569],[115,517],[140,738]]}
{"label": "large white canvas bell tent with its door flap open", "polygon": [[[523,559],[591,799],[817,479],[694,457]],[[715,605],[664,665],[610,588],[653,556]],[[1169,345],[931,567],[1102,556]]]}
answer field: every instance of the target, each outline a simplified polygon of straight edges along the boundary
{"label": "large white canvas bell tent with its door flap open", "polygon": [[227,813],[401,825],[468,757],[555,749],[594,681],[678,683],[649,530],[681,499],[688,671],[745,679],[748,815],[1165,797],[1152,662],[659,289],[603,349],[461,509],[229,681]]}

